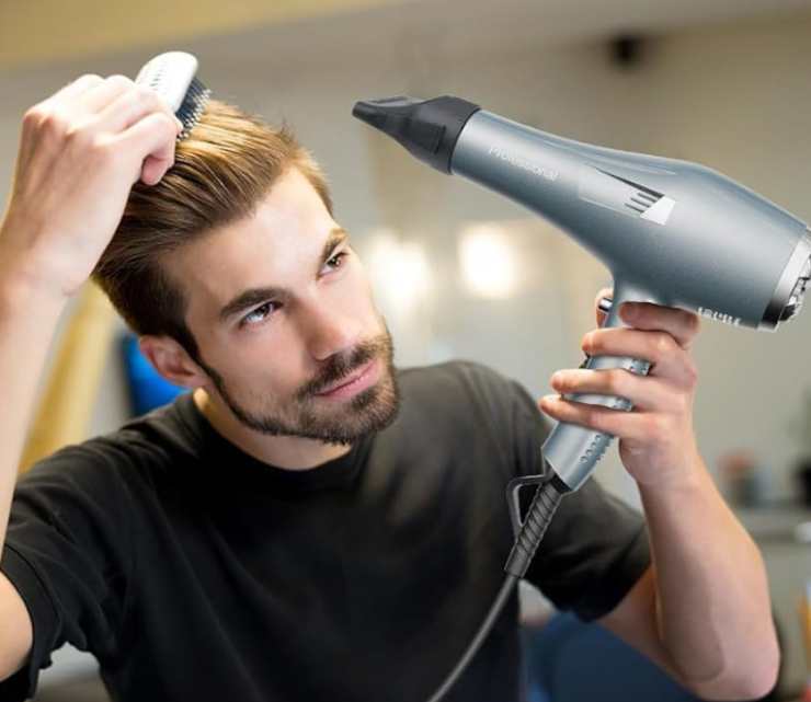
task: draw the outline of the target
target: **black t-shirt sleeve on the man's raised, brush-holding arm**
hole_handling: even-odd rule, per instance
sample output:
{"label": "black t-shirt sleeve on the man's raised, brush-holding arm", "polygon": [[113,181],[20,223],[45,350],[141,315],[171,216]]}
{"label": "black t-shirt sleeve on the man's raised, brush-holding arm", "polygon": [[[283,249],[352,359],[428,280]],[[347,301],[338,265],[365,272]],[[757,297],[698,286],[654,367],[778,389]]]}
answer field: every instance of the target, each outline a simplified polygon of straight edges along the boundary
{"label": "black t-shirt sleeve on the man's raised, brush-holding arm", "polygon": [[0,681],[4,702],[32,697],[39,670],[66,642],[115,655],[133,554],[108,461],[99,447],[68,447],[16,485],[0,569],[28,610],[34,640],[25,665]]}

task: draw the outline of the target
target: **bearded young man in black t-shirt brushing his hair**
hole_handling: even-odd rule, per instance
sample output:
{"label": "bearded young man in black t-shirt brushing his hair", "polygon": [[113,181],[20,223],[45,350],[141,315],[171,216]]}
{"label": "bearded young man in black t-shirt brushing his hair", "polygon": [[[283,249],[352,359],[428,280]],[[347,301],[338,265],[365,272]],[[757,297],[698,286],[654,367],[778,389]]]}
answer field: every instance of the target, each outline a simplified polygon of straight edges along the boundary
{"label": "bearded young man in black t-shirt brushing his hair", "polygon": [[[216,101],[175,152],[176,133],[123,77],[83,76],[23,119],[0,229],[0,699],[30,694],[69,641],[117,700],[425,700],[499,590],[504,487],[541,472],[548,424],[479,365],[393,368],[288,133]],[[47,345],[91,274],[193,393],[42,461],[12,504]],[[541,408],[620,437],[647,528],[590,481],[527,577],[699,695],[758,697],[778,664],[768,588],[696,448],[697,319],[626,312],[633,329],[584,349],[650,375],[567,370],[552,387],[635,411]],[[516,609],[513,595],[448,701],[521,699]]]}

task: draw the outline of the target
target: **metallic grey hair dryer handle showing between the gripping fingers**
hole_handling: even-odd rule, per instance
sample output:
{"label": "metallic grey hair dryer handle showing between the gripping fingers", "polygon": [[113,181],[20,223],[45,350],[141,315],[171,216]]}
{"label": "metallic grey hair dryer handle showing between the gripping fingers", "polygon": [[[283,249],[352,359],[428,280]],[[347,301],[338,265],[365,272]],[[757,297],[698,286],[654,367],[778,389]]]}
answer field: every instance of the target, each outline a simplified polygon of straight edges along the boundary
{"label": "metallic grey hair dryer handle showing between the gripping fingers", "polygon": [[[649,292],[619,280],[614,284],[614,301],[606,317],[603,327],[628,326],[619,318],[619,307],[622,302],[654,302],[660,303]],[[592,356],[585,368],[601,370],[607,368],[625,368],[638,375],[647,375],[650,362],[639,358],[624,356]],[[572,393],[564,395],[568,400],[599,404],[612,410],[630,411],[632,405],[625,398],[598,395],[590,393]],[[614,437],[594,429],[559,422],[547,437],[541,447],[544,459],[555,474],[566,485],[578,490],[592,474],[597,461],[605,453],[605,449]]]}

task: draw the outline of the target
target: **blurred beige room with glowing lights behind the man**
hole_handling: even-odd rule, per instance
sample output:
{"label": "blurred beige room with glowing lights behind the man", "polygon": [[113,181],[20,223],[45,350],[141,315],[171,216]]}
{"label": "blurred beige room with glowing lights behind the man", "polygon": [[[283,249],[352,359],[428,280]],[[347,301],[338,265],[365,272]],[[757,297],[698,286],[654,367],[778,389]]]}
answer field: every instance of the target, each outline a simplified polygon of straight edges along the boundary
{"label": "blurred beige room with glowing lights behind the man", "polygon": [[[545,394],[580,364],[610,276],[545,221],[352,118],[356,100],[455,94],[572,139],[698,161],[811,220],[811,0],[0,0],[0,194],[27,107],[85,72],[134,78],[169,49],[198,57],[216,97],[288,122],[313,151],[399,366],[469,358]],[[91,292],[66,311],[28,459],[132,415],[124,333]],[[807,677],[809,346],[806,311],[776,334],[706,321],[695,347],[699,446],[763,549],[784,699]],[[616,447],[597,475],[638,505]],[[91,699],[87,656],[55,660],[42,699],[62,699],[54,681]]]}

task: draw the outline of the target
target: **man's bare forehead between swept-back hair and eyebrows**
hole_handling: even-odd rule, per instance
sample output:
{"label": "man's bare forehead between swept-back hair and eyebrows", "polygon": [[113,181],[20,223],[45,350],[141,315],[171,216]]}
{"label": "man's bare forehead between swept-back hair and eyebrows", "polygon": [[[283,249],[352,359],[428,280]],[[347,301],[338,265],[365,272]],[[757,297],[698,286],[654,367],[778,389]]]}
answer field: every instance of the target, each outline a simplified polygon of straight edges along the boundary
{"label": "man's bare forehead between swept-back hair and eyebrows", "polygon": [[187,315],[212,317],[250,287],[295,287],[318,263],[335,222],[321,197],[289,169],[249,218],[206,233],[163,264],[183,288]]}

